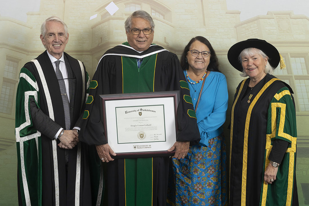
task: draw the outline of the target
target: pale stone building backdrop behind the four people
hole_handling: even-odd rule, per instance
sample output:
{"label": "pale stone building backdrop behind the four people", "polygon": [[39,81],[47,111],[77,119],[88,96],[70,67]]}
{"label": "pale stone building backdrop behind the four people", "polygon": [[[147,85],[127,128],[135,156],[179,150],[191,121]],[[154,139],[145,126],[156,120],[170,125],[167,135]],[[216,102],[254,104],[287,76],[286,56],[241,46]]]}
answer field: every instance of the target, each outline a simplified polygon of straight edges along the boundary
{"label": "pale stone building backdrop behind the four people", "polygon": [[[227,0],[231,1],[231,0]],[[119,10],[110,15],[111,2],[96,0],[31,0],[26,18],[0,12],[0,205],[17,205],[17,156],[15,146],[15,95],[19,70],[44,51],[39,38],[42,22],[51,15],[62,18],[69,28],[66,52],[84,62],[89,75],[95,72],[103,53],[126,41],[124,21],[135,10],[145,10],[155,21],[154,43],[179,57],[188,41],[204,36],[213,45],[226,75],[229,109],[225,123],[229,147],[229,113],[233,95],[243,79],[227,60],[228,49],[236,42],[259,38],[273,44],[284,57],[287,69],[274,75],[290,84],[296,103],[297,186],[300,205],[309,205],[309,18],[293,11],[268,11],[240,20],[239,10],[229,10],[226,0],[115,0]],[[15,4],[14,4],[15,2]],[[18,2],[6,2],[23,11]],[[250,2],[250,1],[247,1]],[[252,1],[253,2],[253,1]],[[282,2],[282,1],[281,1]],[[284,2],[284,1],[283,1]],[[3,5],[3,4],[2,4]],[[305,5],[303,5],[305,6]],[[252,12],[258,8],[251,6]],[[289,10],[289,9],[287,9]],[[98,14],[95,19],[90,16]]]}

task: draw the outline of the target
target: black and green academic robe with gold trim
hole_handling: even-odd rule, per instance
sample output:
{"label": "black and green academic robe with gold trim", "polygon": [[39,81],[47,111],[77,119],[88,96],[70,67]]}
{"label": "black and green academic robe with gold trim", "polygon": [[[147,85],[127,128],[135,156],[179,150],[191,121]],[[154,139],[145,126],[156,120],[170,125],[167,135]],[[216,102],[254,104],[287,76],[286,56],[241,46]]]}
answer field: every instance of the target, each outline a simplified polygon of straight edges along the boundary
{"label": "black and green academic robe with gold trim", "polygon": [[[298,205],[293,91],[267,74],[245,94],[249,81],[240,82],[231,110],[229,205]],[[267,185],[264,172],[275,139],[287,141],[289,146],[277,179]]]}

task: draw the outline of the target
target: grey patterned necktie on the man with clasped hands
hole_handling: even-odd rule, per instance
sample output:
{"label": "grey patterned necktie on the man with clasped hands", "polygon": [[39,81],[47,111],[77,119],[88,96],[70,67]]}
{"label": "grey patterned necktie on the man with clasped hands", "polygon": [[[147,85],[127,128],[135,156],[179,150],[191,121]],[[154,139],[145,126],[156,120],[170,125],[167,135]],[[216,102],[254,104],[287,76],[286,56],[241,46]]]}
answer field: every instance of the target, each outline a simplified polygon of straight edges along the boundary
{"label": "grey patterned necktie on the man with clasped hands", "polygon": [[56,76],[58,79],[61,97],[62,97],[62,103],[63,103],[63,109],[64,109],[64,116],[66,120],[66,129],[70,129],[70,103],[68,95],[66,94],[66,85],[63,80],[62,73],[59,69],[60,60],[55,61],[56,63]]}

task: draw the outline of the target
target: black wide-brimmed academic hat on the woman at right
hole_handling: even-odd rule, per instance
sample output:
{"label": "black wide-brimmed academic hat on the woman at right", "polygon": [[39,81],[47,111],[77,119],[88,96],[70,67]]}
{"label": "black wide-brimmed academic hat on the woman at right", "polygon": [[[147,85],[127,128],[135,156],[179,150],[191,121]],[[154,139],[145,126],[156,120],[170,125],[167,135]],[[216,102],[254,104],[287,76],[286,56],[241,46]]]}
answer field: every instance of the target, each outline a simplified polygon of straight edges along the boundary
{"label": "black wide-brimmed academic hat on the woman at right", "polygon": [[245,41],[240,41],[229,49],[227,52],[227,59],[229,60],[230,64],[237,70],[243,71],[243,67],[241,66],[241,63],[238,60],[239,54],[245,49],[245,48],[258,48],[262,52],[268,56],[268,62],[273,67],[276,68],[280,62],[280,55],[276,47],[274,47],[272,44],[269,44],[265,40],[260,39],[247,39]]}

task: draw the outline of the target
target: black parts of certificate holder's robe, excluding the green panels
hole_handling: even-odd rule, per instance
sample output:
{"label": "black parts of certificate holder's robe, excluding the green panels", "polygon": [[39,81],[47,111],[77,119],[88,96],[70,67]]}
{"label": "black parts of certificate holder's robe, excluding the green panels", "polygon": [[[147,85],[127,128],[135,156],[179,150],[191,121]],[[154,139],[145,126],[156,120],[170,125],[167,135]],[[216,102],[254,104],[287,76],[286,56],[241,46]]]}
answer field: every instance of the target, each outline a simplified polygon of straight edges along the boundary
{"label": "black parts of certificate holder's robe, excluding the green panels", "polygon": [[[102,145],[107,141],[104,136],[104,128],[101,118],[101,104],[99,95],[101,94],[121,94],[122,85],[122,61],[121,56],[106,55],[109,53],[125,53],[132,55],[143,55],[155,50],[163,49],[157,45],[152,45],[148,50],[138,53],[132,49],[116,46],[108,50],[100,60],[92,81],[97,81],[98,86],[91,90],[89,95],[93,95],[94,103],[86,105],[89,117],[85,120],[82,128],[81,140],[88,144]],[[106,56],[105,56],[106,55]],[[181,69],[177,56],[169,51],[159,52],[155,65],[154,91],[180,90],[180,103],[177,110],[178,131],[177,141],[191,141],[197,144],[200,140],[197,121],[188,116],[188,110],[193,110],[193,105],[184,101],[183,95],[189,95],[188,89],[180,87],[180,80],[186,82],[183,70]],[[193,110],[194,111],[194,110]],[[124,179],[124,159],[115,159],[107,165],[107,190],[108,205],[125,205],[125,179]],[[167,198],[168,181],[168,157],[153,158],[153,205],[165,205]]]}

